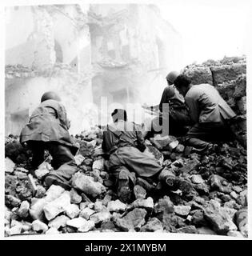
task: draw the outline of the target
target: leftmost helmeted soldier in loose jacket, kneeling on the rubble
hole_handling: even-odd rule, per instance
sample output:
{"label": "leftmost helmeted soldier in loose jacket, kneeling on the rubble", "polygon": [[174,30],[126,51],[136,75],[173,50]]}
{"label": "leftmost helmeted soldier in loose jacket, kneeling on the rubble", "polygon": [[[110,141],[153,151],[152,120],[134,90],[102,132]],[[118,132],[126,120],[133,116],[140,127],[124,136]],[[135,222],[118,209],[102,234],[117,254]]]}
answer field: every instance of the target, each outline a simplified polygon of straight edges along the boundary
{"label": "leftmost helmeted soldier in loose jacket, kneeling on the rubble", "polygon": [[46,175],[46,186],[52,184],[70,189],[70,178],[77,171],[74,155],[78,146],[68,132],[70,121],[66,118],[66,109],[54,92],[42,95],[41,104],[30,116],[29,123],[22,129],[20,142],[32,151],[31,166],[34,170],[45,160],[44,151],[48,150],[54,168]]}

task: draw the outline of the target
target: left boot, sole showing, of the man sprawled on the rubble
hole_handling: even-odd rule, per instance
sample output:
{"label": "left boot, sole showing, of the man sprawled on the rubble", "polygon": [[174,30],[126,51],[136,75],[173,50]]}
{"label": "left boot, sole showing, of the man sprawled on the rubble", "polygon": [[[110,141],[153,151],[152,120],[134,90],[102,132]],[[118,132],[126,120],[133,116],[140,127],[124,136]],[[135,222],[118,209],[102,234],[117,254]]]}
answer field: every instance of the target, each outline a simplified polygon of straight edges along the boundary
{"label": "left boot, sole showing, of the man sprawled on the rubble", "polygon": [[121,202],[130,202],[130,178],[128,170],[120,170],[118,174],[118,198]]}

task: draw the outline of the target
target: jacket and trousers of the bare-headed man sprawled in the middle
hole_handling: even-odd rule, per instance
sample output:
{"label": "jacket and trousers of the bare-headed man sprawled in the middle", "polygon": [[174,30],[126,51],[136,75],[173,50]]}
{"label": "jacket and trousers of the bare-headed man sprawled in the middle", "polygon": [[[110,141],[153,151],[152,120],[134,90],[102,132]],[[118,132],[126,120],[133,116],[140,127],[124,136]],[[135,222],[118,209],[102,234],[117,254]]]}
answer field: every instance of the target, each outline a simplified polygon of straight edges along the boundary
{"label": "jacket and trousers of the bare-headed man sprawled in the middle", "polygon": [[146,148],[142,132],[133,122],[118,121],[106,128],[102,149],[110,154],[110,172],[116,174],[121,166],[125,166],[138,176],[151,177],[162,170],[154,158],[142,153]]}

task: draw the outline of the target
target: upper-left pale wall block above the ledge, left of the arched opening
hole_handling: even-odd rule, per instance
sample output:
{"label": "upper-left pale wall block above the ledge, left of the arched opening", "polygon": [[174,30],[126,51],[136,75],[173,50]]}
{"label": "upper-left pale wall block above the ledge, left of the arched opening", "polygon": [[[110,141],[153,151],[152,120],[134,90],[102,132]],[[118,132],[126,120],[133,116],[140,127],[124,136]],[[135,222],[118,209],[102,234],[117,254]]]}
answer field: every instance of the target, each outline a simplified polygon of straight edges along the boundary
{"label": "upper-left pale wall block above the ledge, left of the arched opening", "polygon": [[55,61],[52,22],[46,10],[34,6],[6,8],[6,65],[34,69]]}

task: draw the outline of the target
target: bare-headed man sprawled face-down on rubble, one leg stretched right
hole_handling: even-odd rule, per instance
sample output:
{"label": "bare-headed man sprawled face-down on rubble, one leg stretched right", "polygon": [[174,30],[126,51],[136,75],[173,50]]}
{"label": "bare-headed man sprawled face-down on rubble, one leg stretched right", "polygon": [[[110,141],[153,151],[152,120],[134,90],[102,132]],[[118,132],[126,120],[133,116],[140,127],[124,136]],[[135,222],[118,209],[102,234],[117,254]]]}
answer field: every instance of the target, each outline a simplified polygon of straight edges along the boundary
{"label": "bare-headed man sprawled face-down on rubble, one leg stretched right", "polygon": [[127,121],[126,110],[115,109],[111,115],[113,123],[103,132],[102,150],[110,155],[108,168],[116,178],[118,198],[122,202],[130,201],[130,181],[134,184],[132,173],[160,181],[166,190],[188,188],[184,179],[162,168],[155,158],[144,152],[146,145],[142,132],[134,122]]}

